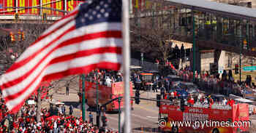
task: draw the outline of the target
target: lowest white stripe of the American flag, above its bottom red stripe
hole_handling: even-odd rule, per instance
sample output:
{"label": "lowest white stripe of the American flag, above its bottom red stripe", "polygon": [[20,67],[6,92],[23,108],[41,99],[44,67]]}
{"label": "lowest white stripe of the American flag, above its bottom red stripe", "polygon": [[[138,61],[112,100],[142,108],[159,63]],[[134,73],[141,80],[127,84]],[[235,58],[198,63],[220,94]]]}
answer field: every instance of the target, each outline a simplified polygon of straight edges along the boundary
{"label": "lowest white stripe of the American flag, above its bottom red stripe", "polygon": [[[120,60],[122,60],[122,56],[116,55],[115,53],[91,55],[91,56],[80,57],[80,58],[76,58],[73,60],[69,60],[67,62],[51,65],[47,68],[46,71],[48,71],[48,73],[50,73],[50,69],[53,69],[53,68],[61,68],[61,70],[68,70],[68,69],[78,68],[78,67],[91,65],[91,64],[95,64],[95,63],[100,63],[100,62],[120,63]],[[65,68],[64,68],[64,66],[65,66]],[[45,76],[45,73],[41,73],[40,76],[37,78],[37,80],[34,81],[33,84],[31,84],[31,86],[28,89],[26,89],[26,92],[24,92],[23,94],[21,94],[19,97],[15,98],[14,100],[8,101],[6,103],[6,105],[9,107],[9,109],[12,110],[12,108],[19,105],[22,100],[24,100],[32,92],[34,92],[34,89],[36,89],[35,87],[40,83],[43,76]]]}

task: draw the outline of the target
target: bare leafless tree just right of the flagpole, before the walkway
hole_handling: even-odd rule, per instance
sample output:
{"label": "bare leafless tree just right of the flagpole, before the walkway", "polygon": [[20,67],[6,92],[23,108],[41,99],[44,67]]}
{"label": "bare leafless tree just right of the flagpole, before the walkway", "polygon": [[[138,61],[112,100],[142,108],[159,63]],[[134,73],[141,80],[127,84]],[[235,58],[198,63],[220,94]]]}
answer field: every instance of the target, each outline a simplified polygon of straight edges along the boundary
{"label": "bare leafless tree just right of the flagpole, before the walkway", "polygon": [[[142,52],[156,51],[163,60],[171,56],[171,40],[177,38],[176,31],[180,28],[177,24],[172,25],[171,22],[172,17],[178,18],[178,9],[166,10],[165,6],[159,1],[158,7],[154,9],[147,10],[147,12],[135,12],[134,21],[131,21],[131,32],[134,36],[131,46],[138,47]],[[140,17],[146,13],[151,16]]]}

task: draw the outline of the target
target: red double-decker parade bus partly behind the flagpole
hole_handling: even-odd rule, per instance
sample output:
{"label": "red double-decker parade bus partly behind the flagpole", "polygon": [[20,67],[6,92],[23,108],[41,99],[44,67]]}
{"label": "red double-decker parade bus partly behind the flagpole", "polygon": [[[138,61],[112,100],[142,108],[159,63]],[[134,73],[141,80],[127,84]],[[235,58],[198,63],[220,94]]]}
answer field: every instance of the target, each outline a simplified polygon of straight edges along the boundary
{"label": "red double-decker parade bus partly behind the flagpole", "polygon": [[[97,105],[97,84],[91,81],[85,81],[85,98],[87,101],[87,105],[91,108],[95,108]],[[130,82],[130,96],[133,97],[132,93],[132,82]],[[82,92],[82,81],[80,80],[80,92]],[[80,102],[82,101],[82,94],[78,94],[80,97]],[[98,84],[98,96],[99,96],[99,105],[103,105],[106,102],[113,100],[117,97],[124,96],[124,85],[123,82],[114,82],[111,86],[105,86],[103,84]],[[133,101],[131,100],[131,107],[133,105]],[[121,99],[120,107],[124,106],[124,98]],[[132,108],[133,109],[133,108]],[[105,108],[106,111],[117,111],[118,110],[118,100],[114,100],[110,104],[108,104]]]}

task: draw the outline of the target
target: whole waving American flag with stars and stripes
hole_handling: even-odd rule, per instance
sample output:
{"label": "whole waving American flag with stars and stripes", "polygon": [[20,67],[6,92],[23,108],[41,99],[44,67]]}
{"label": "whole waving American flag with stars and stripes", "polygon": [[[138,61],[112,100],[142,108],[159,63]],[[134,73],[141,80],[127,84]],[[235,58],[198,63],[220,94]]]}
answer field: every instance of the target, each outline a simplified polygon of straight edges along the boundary
{"label": "whole waving American flag with stars and stripes", "polygon": [[42,81],[119,70],[121,6],[121,0],[88,0],[42,33],[0,78],[7,108],[17,112]]}

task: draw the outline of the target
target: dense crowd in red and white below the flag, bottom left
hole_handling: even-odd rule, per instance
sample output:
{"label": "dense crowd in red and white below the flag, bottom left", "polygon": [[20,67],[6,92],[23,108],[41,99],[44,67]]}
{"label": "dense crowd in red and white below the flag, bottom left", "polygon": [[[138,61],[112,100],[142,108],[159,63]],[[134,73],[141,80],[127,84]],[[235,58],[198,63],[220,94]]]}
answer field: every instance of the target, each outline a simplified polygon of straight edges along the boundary
{"label": "dense crowd in red and white below the flag, bottom left", "polygon": [[[29,99],[30,100],[30,99]],[[10,113],[0,99],[0,133],[97,133],[102,132],[94,126],[92,115],[89,120],[83,121],[80,117],[73,116],[73,106],[50,105],[42,108],[40,121],[37,121],[37,105],[26,102],[18,113]],[[105,132],[112,133],[110,129]]]}

